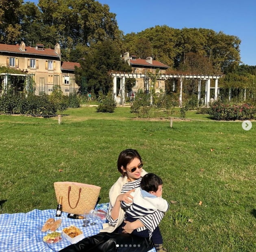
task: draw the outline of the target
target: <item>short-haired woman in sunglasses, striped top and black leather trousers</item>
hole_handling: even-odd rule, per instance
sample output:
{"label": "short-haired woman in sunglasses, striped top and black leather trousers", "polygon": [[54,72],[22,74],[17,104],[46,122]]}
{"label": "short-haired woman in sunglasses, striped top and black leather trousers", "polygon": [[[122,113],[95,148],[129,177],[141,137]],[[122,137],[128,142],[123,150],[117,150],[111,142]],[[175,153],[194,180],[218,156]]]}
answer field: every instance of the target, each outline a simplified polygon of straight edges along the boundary
{"label": "short-haired woman in sunglasses, striped top and black leather trousers", "polygon": [[[147,174],[142,166],[141,156],[136,150],[127,149],[119,154],[117,169],[122,175],[109,191],[110,207],[106,216],[108,223],[103,224],[103,229],[100,230],[98,235],[86,237],[60,252],[130,252],[129,246],[132,246],[132,252],[147,252],[154,248],[154,244],[148,237],[139,237],[131,233],[135,229],[140,231],[146,228],[153,232],[163,218],[163,212],[156,211],[152,215],[145,215],[135,222],[128,222],[124,220],[125,211],[121,208],[121,201],[132,202],[130,193],[140,187],[141,178]],[[153,219],[157,221],[152,222]],[[123,222],[126,225],[121,225]],[[119,233],[121,226],[123,233]]]}

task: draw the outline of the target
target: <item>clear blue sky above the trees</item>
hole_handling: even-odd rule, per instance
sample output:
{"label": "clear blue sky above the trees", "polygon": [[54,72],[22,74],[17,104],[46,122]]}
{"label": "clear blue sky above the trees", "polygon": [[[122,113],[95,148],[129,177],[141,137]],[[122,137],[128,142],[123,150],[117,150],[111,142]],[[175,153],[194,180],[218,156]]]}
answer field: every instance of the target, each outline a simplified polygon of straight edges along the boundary
{"label": "clear blue sky above the trees", "polygon": [[[38,2],[38,0],[30,0]],[[241,61],[256,65],[256,0],[98,0],[116,14],[124,34],[156,25],[206,28],[241,39]]]}

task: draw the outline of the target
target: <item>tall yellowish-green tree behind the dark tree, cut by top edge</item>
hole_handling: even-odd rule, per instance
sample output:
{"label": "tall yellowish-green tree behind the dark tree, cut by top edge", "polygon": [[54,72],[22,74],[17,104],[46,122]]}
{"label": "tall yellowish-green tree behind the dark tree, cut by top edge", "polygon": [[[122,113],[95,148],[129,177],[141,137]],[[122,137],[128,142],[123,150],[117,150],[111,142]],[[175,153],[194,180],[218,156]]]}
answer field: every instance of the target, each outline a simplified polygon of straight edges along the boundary
{"label": "tall yellowish-green tree behind the dark tree, cut by top edge", "polygon": [[76,45],[91,46],[105,39],[120,37],[115,14],[95,0],[39,0],[43,24],[58,41],[64,59]]}

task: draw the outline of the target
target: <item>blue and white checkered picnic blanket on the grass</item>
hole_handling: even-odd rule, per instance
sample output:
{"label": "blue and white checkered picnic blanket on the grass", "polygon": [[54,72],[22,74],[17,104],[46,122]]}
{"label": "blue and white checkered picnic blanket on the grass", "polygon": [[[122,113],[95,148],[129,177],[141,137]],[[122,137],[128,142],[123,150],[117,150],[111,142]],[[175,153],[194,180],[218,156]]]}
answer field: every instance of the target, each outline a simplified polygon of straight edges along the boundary
{"label": "blue and white checkered picnic blanket on the grass", "polygon": [[[105,209],[106,205],[97,205],[96,209]],[[58,252],[69,246],[71,243],[65,238],[52,244],[43,241],[46,233],[41,232],[41,228],[48,218],[62,219],[58,230],[70,225],[77,226],[85,237],[96,235],[102,229],[101,220],[97,220],[95,225],[82,227],[82,220],[67,218],[67,213],[64,212],[57,218],[55,213],[55,209],[34,209],[28,213],[0,214],[0,252]],[[149,252],[155,251],[153,248]]]}

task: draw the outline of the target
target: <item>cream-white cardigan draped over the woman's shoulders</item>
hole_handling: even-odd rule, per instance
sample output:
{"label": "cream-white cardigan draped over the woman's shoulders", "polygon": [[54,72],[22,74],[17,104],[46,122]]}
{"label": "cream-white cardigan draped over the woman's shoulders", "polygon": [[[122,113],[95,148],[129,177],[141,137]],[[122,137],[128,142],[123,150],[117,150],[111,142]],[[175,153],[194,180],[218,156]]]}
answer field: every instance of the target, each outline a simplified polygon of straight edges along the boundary
{"label": "cream-white cardigan draped over the woman's shoulders", "polygon": [[[146,172],[145,170],[141,170],[141,177],[143,177],[145,174],[147,174],[148,172]],[[117,181],[115,182],[114,185],[112,185],[112,187],[109,190],[109,201],[110,204],[112,206],[115,205],[115,201],[117,199],[117,196],[119,194],[121,194],[121,190],[124,186],[124,184],[126,184],[128,182],[127,180],[128,178],[126,176],[120,176],[119,179],[117,179]],[[100,232],[107,232],[107,233],[112,233],[115,231],[115,229],[117,227],[119,227],[122,222],[124,221],[124,210],[120,207],[119,208],[119,214],[118,214],[118,218],[117,218],[117,224],[115,226],[111,226],[108,223],[104,223],[103,224],[103,229],[100,230]]]}

